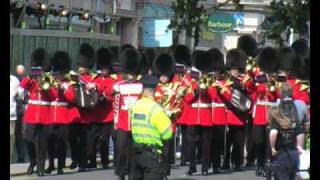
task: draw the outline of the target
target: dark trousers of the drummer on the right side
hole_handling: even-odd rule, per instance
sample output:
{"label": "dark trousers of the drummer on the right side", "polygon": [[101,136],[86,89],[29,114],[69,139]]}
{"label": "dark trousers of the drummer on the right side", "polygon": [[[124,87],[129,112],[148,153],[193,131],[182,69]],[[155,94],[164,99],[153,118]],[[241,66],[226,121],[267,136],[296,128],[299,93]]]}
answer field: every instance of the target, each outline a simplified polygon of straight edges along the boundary
{"label": "dark trousers of the drummer on the right side", "polygon": [[[235,166],[241,166],[243,164],[243,154],[244,154],[244,126],[230,126],[227,136],[227,149],[226,157],[224,159],[224,164],[230,163],[230,153],[231,162]],[[232,152],[230,148],[232,146]]]}

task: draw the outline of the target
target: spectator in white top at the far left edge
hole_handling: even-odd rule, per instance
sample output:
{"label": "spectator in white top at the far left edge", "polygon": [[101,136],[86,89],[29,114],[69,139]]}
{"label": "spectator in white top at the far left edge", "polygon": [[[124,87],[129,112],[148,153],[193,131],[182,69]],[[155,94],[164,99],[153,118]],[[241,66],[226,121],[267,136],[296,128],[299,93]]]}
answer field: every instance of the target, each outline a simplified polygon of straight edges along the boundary
{"label": "spectator in white top at the far left edge", "polygon": [[15,145],[15,126],[17,120],[16,98],[19,96],[19,80],[10,75],[10,162],[13,160]]}

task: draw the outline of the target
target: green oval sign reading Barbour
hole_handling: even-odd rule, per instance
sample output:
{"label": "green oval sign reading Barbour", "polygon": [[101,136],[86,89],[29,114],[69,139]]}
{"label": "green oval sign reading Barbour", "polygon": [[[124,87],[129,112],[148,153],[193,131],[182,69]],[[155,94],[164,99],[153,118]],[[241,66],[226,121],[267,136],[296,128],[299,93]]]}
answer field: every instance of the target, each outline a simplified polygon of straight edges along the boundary
{"label": "green oval sign reading Barbour", "polygon": [[233,30],[236,20],[230,14],[217,11],[208,17],[207,29],[210,32],[224,33]]}

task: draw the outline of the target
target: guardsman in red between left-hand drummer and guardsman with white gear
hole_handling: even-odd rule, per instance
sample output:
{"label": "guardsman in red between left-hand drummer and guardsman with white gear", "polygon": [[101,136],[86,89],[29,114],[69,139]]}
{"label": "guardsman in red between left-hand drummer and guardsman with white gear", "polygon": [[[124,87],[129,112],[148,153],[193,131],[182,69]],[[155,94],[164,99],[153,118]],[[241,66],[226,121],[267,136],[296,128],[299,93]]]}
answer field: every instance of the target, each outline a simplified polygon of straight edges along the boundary
{"label": "guardsman in red between left-hand drummer and guardsman with white gear", "polygon": [[99,92],[99,102],[95,107],[96,118],[92,125],[92,133],[90,138],[92,144],[88,144],[90,148],[89,160],[92,167],[97,167],[96,154],[97,144],[100,146],[101,163],[104,169],[108,168],[109,164],[109,140],[113,131],[113,96],[112,87],[116,80],[116,75],[111,74],[111,57],[112,52],[108,48],[100,48],[97,51],[97,72],[98,76],[94,79]]}

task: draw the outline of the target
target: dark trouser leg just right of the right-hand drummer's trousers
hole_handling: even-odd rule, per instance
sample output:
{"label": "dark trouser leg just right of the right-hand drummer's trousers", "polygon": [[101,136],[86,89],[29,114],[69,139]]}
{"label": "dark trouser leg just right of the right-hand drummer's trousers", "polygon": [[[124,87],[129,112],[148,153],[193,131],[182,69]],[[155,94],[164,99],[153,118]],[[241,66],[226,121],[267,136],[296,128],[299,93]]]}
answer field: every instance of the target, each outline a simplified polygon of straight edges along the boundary
{"label": "dark trouser leg just right of the right-hand drummer's trousers", "polygon": [[245,129],[245,145],[247,150],[247,163],[254,163],[254,160],[256,158],[256,149],[255,149],[255,143],[253,141],[253,122],[252,117],[248,116],[248,123],[246,124]]}

